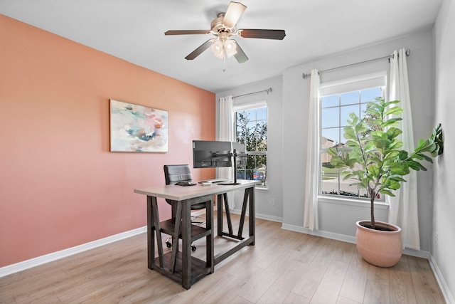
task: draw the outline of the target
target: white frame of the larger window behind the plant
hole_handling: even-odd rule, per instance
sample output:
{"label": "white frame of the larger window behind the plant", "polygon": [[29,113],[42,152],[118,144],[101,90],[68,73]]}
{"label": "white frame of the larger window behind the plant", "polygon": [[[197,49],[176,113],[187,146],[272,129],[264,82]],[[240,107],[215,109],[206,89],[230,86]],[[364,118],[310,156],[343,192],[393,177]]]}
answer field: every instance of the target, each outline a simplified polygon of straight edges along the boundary
{"label": "white frame of the larger window behind the plant", "polygon": [[[372,88],[381,88],[382,90],[382,98],[385,98],[387,95],[387,71],[380,71],[378,73],[370,73],[367,75],[359,75],[353,78],[345,78],[341,80],[321,83],[320,90],[319,90],[319,100],[318,100],[318,107],[319,107],[319,128],[318,128],[318,138],[319,138],[319,157],[318,157],[318,166],[319,166],[319,180],[318,180],[318,197],[319,199],[323,200],[333,200],[338,202],[345,202],[347,200],[353,201],[354,203],[361,203],[365,201],[369,201],[368,197],[361,197],[361,196],[348,196],[348,195],[341,195],[339,192],[341,191],[340,188],[340,178],[338,173],[338,194],[323,194],[322,193],[322,179],[323,179],[323,170],[322,170],[322,157],[323,153],[327,151],[327,147],[322,147],[322,138],[323,138],[323,128],[322,128],[322,99],[332,95],[338,95],[338,105],[333,106],[333,108],[338,108],[338,115],[339,120],[341,120],[341,108],[346,105],[341,105],[341,100],[339,100],[342,94],[352,93],[352,92],[360,92],[362,90],[368,90]],[[359,100],[358,103],[353,105],[358,105],[359,110],[361,111],[362,101],[361,95],[359,93]],[[364,103],[365,104],[365,103]],[[338,128],[340,132],[343,132],[343,125],[346,125],[346,122],[338,121]],[[342,133],[340,134],[340,138],[343,138]],[[385,204],[385,197],[382,196],[380,199],[376,199],[378,203]]]}

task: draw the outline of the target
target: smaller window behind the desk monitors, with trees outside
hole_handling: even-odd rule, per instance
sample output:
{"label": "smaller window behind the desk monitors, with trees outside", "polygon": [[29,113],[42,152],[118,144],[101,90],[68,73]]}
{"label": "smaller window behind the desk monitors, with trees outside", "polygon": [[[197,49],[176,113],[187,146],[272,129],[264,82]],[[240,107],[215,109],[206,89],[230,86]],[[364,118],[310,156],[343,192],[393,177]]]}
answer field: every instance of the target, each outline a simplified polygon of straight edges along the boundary
{"label": "smaller window behind the desk monitors, with trees outside", "polygon": [[235,138],[245,145],[247,164],[237,167],[237,179],[261,181],[267,186],[267,105],[235,107]]}

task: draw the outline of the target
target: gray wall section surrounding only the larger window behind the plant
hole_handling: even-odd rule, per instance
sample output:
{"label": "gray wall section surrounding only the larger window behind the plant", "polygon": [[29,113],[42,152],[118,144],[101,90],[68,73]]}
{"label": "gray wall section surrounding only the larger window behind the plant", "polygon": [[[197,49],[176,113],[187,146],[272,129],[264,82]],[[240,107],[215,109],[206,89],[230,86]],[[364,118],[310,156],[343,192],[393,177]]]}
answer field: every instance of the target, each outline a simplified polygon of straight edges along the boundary
{"label": "gray wall section surrounding only the larger window behind the plant", "polygon": [[[292,230],[303,229],[304,222],[304,174],[306,157],[306,121],[308,112],[310,80],[304,80],[302,73],[311,69],[326,70],[350,63],[380,58],[392,53],[395,49],[410,48],[407,57],[410,80],[410,97],[414,137],[417,142],[428,137],[433,127],[434,98],[432,75],[432,31],[428,29],[411,36],[400,37],[392,41],[375,44],[354,51],[341,53],[330,58],[306,63],[284,70],[283,73],[283,116],[284,116],[284,162],[283,162],[283,227]],[[354,65],[326,73],[321,73],[321,83],[331,80],[353,77],[388,70],[387,59]],[[422,251],[431,248],[432,236],[432,166],[430,172],[419,172],[419,225]],[[287,172],[291,172],[287,174]],[[365,203],[367,204],[367,203]],[[378,219],[387,219],[387,207],[378,206]],[[353,241],[355,221],[369,219],[368,207],[362,204],[333,204],[331,201],[320,201],[319,232],[333,234],[337,239]]]}

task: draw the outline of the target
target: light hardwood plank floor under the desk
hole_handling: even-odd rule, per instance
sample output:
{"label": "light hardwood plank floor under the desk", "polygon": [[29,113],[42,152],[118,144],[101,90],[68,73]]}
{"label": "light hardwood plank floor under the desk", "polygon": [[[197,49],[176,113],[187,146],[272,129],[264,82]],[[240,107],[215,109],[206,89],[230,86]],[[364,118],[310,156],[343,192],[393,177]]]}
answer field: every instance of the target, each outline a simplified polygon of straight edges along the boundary
{"label": "light hardwood plank floor under the desk", "polygon": [[[444,303],[422,258],[402,256],[396,266],[378,268],[351,243],[261,219],[256,231],[255,246],[189,290],[147,268],[140,234],[0,278],[0,303]],[[193,255],[203,257],[204,240],[196,246]],[[215,253],[225,246],[230,241],[215,238]]]}

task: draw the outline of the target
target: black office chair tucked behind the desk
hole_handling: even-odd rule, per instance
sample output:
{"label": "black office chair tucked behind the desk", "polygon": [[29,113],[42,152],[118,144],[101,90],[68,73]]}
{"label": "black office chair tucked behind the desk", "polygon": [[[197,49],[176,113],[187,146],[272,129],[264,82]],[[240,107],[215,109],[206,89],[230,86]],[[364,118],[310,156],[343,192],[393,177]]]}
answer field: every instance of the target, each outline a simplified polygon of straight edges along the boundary
{"label": "black office chair tucked behind the desk", "polygon": [[[165,164],[164,179],[166,180],[166,184],[193,181],[193,177],[191,176],[191,169],[188,164]],[[166,199],[166,202],[172,206],[172,218],[175,218],[176,204],[173,204],[173,201],[171,199]],[[205,202],[191,206],[191,210],[199,209],[205,209]],[[202,219],[203,221],[196,221],[197,219]],[[205,220],[200,216],[193,216],[191,217],[191,224],[203,225],[205,224]],[[169,237],[166,240],[166,246],[168,248],[172,247],[171,239],[172,237]],[[193,243],[191,243],[191,250],[196,251],[196,246]]]}

